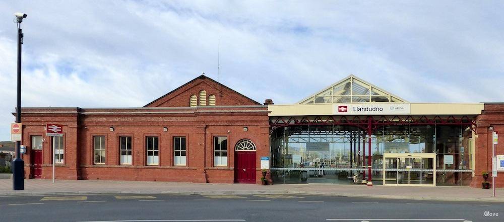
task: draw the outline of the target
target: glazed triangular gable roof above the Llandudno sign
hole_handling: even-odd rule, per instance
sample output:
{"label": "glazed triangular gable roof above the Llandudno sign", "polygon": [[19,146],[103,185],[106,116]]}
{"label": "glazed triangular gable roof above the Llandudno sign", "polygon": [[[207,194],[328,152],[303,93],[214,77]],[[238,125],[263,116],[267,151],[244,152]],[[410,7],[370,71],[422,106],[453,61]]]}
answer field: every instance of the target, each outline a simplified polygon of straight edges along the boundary
{"label": "glazed triangular gable roof above the Llandudno sign", "polygon": [[298,104],[368,102],[407,103],[408,101],[350,75],[318,93],[304,98]]}

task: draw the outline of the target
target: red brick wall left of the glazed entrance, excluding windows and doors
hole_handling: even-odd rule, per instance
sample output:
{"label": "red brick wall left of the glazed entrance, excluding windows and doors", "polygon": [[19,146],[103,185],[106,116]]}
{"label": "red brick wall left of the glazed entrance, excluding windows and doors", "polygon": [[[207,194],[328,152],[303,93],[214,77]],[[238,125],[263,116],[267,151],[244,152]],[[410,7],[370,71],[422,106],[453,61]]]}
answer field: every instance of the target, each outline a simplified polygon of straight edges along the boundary
{"label": "red brick wall left of the glazed entrance, excluding windows and doors", "polygon": [[[261,156],[269,156],[265,106],[185,109],[23,109],[23,144],[27,145],[26,177],[31,177],[31,135],[44,135],[46,123],[64,125],[65,163],[56,179],[234,182],[234,145],[243,138],[257,146],[257,183]],[[71,113],[69,113],[71,112]],[[246,126],[248,131],[243,131]],[[110,127],[114,131],[110,131]],[[164,127],[168,130],[165,132]],[[106,164],[94,164],[94,136],[105,136]],[[132,137],[132,165],[119,164],[119,137]],[[146,164],[146,136],[159,138],[159,166]],[[173,164],[173,137],[186,137],[186,166]],[[213,166],[213,137],[228,137],[228,166]],[[43,137],[42,178],[52,176],[50,137]]]}

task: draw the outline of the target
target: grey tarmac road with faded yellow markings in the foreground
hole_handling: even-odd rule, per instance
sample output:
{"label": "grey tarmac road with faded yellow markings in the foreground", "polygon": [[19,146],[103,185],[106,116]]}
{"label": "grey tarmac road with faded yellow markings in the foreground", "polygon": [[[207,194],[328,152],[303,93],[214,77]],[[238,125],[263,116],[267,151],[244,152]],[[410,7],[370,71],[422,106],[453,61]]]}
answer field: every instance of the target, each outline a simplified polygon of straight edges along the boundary
{"label": "grey tarmac road with faded yellow markings in the foreground", "polygon": [[504,221],[504,203],[291,194],[17,196],[0,197],[0,221]]}

